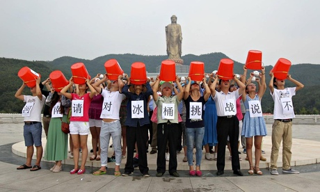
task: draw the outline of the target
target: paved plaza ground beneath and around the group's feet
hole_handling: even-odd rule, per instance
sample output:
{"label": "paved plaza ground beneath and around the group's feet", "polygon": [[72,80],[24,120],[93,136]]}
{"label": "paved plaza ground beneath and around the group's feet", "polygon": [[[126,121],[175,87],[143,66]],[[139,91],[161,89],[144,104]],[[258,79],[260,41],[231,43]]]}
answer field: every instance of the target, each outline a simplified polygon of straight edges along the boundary
{"label": "paved plaza ground beneath and around the group's feet", "polygon": [[[0,124],[0,191],[319,191],[320,187],[320,125],[293,125],[293,146],[291,166],[300,174],[289,175],[281,172],[282,152],[278,159],[280,175],[269,173],[271,152],[271,125],[267,125],[269,136],[264,137],[263,150],[267,161],[260,161],[264,175],[248,175],[246,154],[240,154],[241,171],[244,177],[235,176],[231,170],[231,161],[226,152],[225,175],[216,176],[216,161],[205,160],[202,156],[202,177],[189,176],[188,164],[182,162],[183,152],[177,155],[178,173],[173,177],[168,172],[163,177],[155,177],[157,154],[147,154],[150,167],[149,178],[142,177],[138,170],[129,177],[113,176],[114,163],[108,163],[106,175],[94,176],[93,171],[99,167],[98,161],[88,161],[86,174],[70,175],[73,161],[67,159],[61,173],[51,173],[52,162],[42,161],[42,169],[31,172],[16,170],[25,162],[23,125]],[[42,138],[45,146],[45,136]],[[88,138],[88,149],[90,138]],[[150,149],[149,149],[150,150]],[[239,151],[242,152],[240,148]],[[113,152],[109,148],[109,157]],[[89,156],[91,154],[89,153]],[[34,164],[34,161],[33,161]],[[122,160],[121,171],[125,165]]]}

